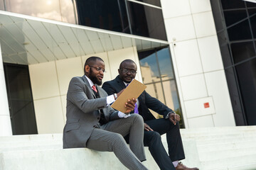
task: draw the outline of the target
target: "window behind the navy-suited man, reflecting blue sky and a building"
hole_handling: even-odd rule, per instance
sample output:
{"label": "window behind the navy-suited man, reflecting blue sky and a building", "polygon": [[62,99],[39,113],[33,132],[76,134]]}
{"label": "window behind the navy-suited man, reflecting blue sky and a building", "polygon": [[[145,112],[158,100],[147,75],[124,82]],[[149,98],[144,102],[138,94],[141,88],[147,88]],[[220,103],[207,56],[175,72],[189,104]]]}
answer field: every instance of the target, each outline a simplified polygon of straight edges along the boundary
{"label": "window behind the navy-suited man, reflecting blue sky and a building", "polygon": [[146,91],[181,115],[180,125],[184,128],[169,47],[138,52],[138,55]]}

